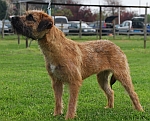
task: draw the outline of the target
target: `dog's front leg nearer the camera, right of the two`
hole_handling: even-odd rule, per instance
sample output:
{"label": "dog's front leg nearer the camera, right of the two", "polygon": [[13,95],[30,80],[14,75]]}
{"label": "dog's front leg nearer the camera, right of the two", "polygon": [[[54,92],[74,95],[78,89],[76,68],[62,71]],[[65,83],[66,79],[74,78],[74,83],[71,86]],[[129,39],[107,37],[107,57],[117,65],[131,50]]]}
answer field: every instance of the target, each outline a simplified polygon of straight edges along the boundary
{"label": "dog's front leg nearer the camera, right of the two", "polygon": [[70,99],[69,99],[69,104],[68,104],[66,120],[73,119],[75,117],[79,88],[80,86],[77,83],[69,84]]}

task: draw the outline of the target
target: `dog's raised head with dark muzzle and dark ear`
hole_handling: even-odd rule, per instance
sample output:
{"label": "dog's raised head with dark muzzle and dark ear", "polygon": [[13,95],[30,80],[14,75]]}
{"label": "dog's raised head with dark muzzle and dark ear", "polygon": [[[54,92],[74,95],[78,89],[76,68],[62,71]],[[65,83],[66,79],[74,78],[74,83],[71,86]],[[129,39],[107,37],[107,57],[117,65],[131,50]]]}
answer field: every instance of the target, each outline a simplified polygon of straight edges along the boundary
{"label": "dog's raised head with dark muzzle and dark ear", "polygon": [[52,17],[43,11],[27,11],[23,16],[12,17],[14,30],[21,35],[34,40],[43,38],[53,27]]}

